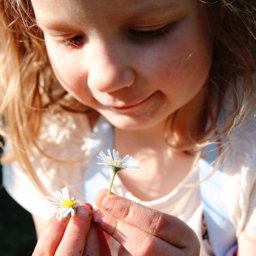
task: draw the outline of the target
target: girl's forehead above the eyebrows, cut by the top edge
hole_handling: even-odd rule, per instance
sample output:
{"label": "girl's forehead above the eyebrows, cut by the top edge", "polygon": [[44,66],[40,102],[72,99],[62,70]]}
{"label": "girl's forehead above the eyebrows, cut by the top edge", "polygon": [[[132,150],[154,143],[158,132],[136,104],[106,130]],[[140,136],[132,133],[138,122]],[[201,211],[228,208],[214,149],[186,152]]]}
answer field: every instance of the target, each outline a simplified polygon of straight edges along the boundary
{"label": "girl's forehead above the eyebrows, cut by the top edge", "polygon": [[165,13],[179,8],[189,9],[197,0],[31,0],[38,21],[73,17],[86,19],[140,18],[143,14]]}

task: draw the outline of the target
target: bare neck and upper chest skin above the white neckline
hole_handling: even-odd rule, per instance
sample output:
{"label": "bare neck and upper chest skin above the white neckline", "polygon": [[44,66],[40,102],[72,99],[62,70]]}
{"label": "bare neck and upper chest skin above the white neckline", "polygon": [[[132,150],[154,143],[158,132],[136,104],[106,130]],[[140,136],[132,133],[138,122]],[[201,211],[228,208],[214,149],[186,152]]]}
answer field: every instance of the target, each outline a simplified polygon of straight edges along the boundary
{"label": "bare neck and upper chest skin above the white neckline", "polygon": [[144,201],[169,194],[186,177],[194,162],[194,157],[167,145],[164,126],[165,122],[146,131],[115,131],[115,148],[120,155],[130,154],[140,161],[139,170],[121,171],[118,177],[134,196]]}

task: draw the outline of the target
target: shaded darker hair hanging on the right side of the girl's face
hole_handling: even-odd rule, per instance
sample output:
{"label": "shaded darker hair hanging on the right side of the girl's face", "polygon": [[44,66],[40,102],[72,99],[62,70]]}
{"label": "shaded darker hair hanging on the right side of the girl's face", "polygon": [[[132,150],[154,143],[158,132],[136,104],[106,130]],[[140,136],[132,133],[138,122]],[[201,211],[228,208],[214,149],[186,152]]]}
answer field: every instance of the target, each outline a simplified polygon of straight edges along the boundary
{"label": "shaded darker hair hanging on the right side of the girl's face", "polygon": [[[198,1],[205,4],[214,41],[207,102],[211,125],[194,141],[194,145],[202,148],[209,143],[211,135],[215,134],[212,140],[218,141],[235,127],[246,125],[246,119],[255,117],[256,2]],[[229,102],[229,107],[233,105],[233,109],[220,127],[217,121],[225,101]],[[171,126],[174,121],[172,118]],[[190,149],[191,145],[180,148]]]}

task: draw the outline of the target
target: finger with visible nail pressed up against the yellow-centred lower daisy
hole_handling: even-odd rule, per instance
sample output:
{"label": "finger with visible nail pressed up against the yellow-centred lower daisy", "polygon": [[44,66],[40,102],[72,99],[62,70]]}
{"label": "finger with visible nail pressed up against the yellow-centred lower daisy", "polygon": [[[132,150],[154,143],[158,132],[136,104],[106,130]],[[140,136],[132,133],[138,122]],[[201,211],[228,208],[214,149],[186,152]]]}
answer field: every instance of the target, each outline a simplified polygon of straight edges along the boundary
{"label": "finger with visible nail pressed up against the yellow-centred lower daisy", "polygon": [[70,218],[68,226],[63,234],[55,256],[82,255],[84,251],[87,233],[90,229],[92,210],[79,205],[75,215]]}

